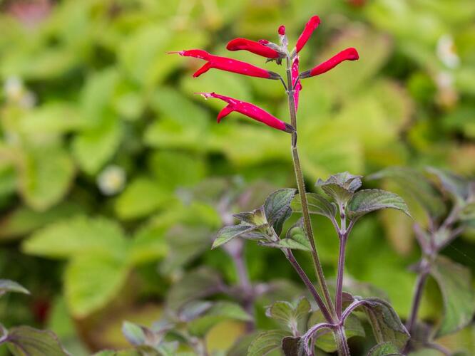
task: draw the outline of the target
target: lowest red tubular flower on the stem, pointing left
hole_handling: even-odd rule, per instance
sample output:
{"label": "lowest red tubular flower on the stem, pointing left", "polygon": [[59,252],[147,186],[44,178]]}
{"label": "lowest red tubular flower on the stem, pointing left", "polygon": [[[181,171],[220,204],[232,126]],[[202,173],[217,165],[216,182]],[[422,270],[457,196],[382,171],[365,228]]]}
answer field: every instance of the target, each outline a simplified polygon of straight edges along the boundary
{"label": "lowest red tubular flower on the stem, pointing left", "polygon": [[233,111],[236,111],[254,120],[265,123],[265,125],[267,126],[274,127],[277,130],[282,130],[285,132],[295,132],[295,129],[294,127],[292,127],[292,125],[289,125],[287,124],[287,122],[283,122],[282,120],[277,119],[277,117],[271,115],[269,112],[262,110],[261,108],[251,103],[246,103],[245,101],[233,99],[228,96],[216,93],[199,94],[203,95],[205,99],[217,98],[228,103],[228,105],[226,105],[225,108],[221,110],[218,114],[218,123],[223,119],[223,117],[229,115]]}

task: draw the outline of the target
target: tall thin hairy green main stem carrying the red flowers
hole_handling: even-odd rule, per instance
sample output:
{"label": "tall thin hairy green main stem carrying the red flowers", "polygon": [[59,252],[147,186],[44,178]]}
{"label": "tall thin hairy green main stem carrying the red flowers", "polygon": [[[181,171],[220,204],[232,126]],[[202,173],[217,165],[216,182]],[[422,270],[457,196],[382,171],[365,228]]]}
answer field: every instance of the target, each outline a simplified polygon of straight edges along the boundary
{"label": "tall thin hairy green main stem carrying the red flowers", "polygon": [[[308,211],[307,204],[307,195],[305,192],[305,181],[302,174],[302,167],[300,166],[300,158],[297,149],[297,112],[295,110],[295,100],[294,100],[294,85],[292,83],[292,63],[290,58],[287,57],[287,99],[289,102],[290,110],[290,123],[295,128],[295,132],[292,133],[292,161],[294,164],[295,178],[297,180],[297,188],[300,195],[300,201],[302,203],[302,215],[304,220],[304,229],[307,234],[307,238],[310,241],[310,246],[312,246],[312,261],[315,268],[315,274],[317,276],[317,283],[322,290],[323,296],[325,298],[325,303],[327,308],[330,310],[330,313],[334,316],[334,306],[332,299],[330,298],[330,293],[328,291],[327,283],[325,281],[325,275],[323,273],[322,264],[320,263],[320,258],[318,257],[317,247],[315,246],[315,239],[313,237],[312,231],[312,222],[310,221],[310,214]],[[327,320],[329,322],[333,321],[333,318]]]}

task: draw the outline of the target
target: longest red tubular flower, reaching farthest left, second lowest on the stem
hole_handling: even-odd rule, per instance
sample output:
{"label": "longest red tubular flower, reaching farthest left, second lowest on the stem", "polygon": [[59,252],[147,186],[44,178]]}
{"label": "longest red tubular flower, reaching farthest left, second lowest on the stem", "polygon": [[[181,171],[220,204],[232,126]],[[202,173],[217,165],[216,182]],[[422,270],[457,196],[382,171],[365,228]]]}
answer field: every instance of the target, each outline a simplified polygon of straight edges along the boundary
{"label": "longest red tubular flower, reaching farthest left, second lowest on the stem", "polygon": [[251,77],[265,78],[265,79],[279,79],[280,75],[270,70],[265,70],[256,66],[252,66],[250,63],[245,63],[242,61],[237,61],[232,58],[214,56],[206,51],[201,49],[191,49],[188,51],[179,51],[179,52],[168,52],[168,53],[178,53],[180,56],[185,57],[195,57],[204,59],[208,61],[203,67],[198,69],[193,77],[199,77],[203,73],[208,72],[211,68],[216,68],[220,70],[226,70],[228,72],[249,75]]}

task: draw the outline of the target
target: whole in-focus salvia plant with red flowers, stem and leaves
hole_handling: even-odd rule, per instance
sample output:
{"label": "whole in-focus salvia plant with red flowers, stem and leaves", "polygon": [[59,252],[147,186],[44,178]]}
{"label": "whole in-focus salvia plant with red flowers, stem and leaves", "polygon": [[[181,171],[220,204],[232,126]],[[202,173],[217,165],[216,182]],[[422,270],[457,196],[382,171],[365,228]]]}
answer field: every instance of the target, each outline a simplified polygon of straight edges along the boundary
{"label": "whole in-focus salvia plant with red flowers, stem and leaves", "polygon": [[[236,238],[256,241],[262,246],[279,248],[287,261],[295,268],[317,305],[317,309],[312,310],[306,299],[293,303],[280,301],[271,305],[267,309],[267,315],[280,322],[283,328],[257,335],[247,350],[248,355],[265,355],[275,349],[283,350],[286,355],[315,355],[315,347],[319,346],[326,347],[327,351],[337,350],[339,355],[350,355],[347,343],[347,338],[351,335],[349,324],[352,325],[353,331],[355,329],[353,325],[357,323],[353,313],[359,310],[366,313],[377,340],[377,345],[370,354],[399,353],[402,352],[409,339],[407,329],[386,300],[362,298],[343,291],[344,255],[349,234],[362,216],[385,208],[398,209],[409,215],[407,205],[401,197],[390,192],[379,189],[359,190],[362,186],[362,177],[348,172],[334,174],[325,181],[319,179],[316,184],[317,193],[305,192],[297,149],[297,108],[299,93],[302,90],[301,82],[323,74],[343,61],[354,61],[359,58],[356,49],[347,48],[315,68],[300,71],[299,53],[319,24],[320,18],[312,16],[292,51],[288,48],[285,26],[280,26],[278,29],[279,44],[267,40],[250,41],[245,38],[236,38],[228,43],[227,48],[230,51],[250,51],[267,58],[267,62],[273,61],[277,65],[285,63],[286,78],[250,63],[214,56],[200,49],[173,52],[180,56],[206,61],[205,65],[194,73],[194,77],[215,68],[258,78],[280,80],[287,94],[290,123],[280,120],[251,103],[218,93],[200,93],[206,99],[216,98],[227,103],[218,114],[218,122],[230,112],[235,111],[289,133],[297,181],[297,189],[279,189],[270,194],[259,208],[235,214],[234,217],[240,221],[239,224],[221,229],[213,243],[213,248],[228,244]],[[302,214],[302,219],[284,233],[285,221],[290,218],[292,211]],[[339,262],[334,293],[330,292],[329,283],[320,263],[310,214],[318,214],[330,219],[339,238]],[[316,286],[297,262],[292,251],[294,249],[310,252],[317,280]],[[328,333],[332,333],[334,337],[333,349],[332,345],[327,345],[328,339],[325,339]],[[325,341],[325,345],[322,346],[321,341]]]}

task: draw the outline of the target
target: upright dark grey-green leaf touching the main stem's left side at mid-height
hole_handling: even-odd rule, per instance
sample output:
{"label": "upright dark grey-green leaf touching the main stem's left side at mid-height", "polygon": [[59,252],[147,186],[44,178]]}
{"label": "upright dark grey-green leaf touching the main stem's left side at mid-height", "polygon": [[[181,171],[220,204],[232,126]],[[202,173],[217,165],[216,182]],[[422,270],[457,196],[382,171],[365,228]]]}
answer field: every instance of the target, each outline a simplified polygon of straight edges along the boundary
{"label": "upright dark grey-green leaf touching the main stem's left side at mid-height", "polygon": [[290,203],[292,202],[296,192],[296,189],[279,189],[265,199],[265,216],[268,223],[274,227],[277,235],[280,235],[285,220],[287,220],[290,214],[292,214]]}

